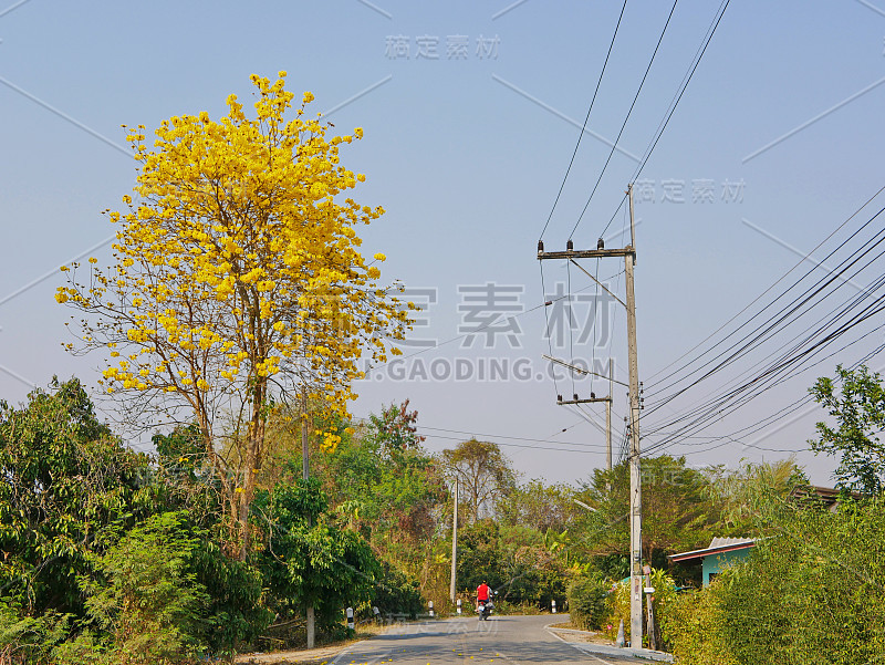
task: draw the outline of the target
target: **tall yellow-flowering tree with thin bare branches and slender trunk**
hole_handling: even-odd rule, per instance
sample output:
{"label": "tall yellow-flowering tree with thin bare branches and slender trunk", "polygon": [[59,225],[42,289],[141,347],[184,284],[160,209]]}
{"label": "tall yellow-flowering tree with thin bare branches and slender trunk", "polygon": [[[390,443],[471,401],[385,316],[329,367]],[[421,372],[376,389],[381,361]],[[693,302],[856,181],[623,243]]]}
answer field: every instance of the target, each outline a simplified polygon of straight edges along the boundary
{"label": "tall yellow-flowering tree with thin bare branches and slender trunk", "polygon": [[[241,557],[274,404],[310,395],[343,412],[361,357],[396,353],[388,341],[403,337],[414,306],[378,284],[384,256],[358,250],[355,228],[384,212],[344,197],[365,177],[339,150],[362,129],[327,136],[320,114],[305,114],[311,93],[292,113],[284,79],[252,75],[251,118],[230,95],[218,121],[164,121],[153,148],[144,125],[128,129],[138,198],[106,211],[119,226],[114,264],[90,259],[82,281],[80,266],[63,267],[55,295],[84,315],[83,344],[69,347],[110,353],[108,392],[196,419]],[[219,454],[228,435],[242,445],[237,468]]]}

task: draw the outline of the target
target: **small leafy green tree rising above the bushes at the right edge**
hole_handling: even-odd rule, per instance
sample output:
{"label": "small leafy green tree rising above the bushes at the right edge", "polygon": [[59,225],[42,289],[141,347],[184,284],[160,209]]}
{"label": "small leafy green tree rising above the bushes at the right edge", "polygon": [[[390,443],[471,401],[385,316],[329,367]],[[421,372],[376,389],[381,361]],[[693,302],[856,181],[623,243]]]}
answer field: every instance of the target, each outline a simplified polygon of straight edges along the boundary
{"label": "small leafy green tree rising above the bushes at the right edge", "polygon": [[839,365],[836,374],[837,381],[823,376],[810,389],[836,427],[818,423],[819,438],[809,444],[815,453],[840,456],[837,487],[879,495],[885,489],[885,444],[878,437],[885,429],[885,387],[881,376],[863,365]]}

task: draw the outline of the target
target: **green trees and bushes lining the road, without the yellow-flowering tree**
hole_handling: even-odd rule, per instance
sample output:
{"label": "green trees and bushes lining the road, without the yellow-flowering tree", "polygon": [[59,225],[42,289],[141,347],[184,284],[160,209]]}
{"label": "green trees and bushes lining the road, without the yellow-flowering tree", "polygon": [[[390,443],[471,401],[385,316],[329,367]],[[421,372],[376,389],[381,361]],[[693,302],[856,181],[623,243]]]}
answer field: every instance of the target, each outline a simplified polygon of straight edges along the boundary
{"label": "green trees and bushes lining the road, without the yellow-flowering tree", "polygon": [[[845,408],[823,427],[856,432]],[[0,662],[196,663],[303,647],[308,605],[321,644],[351,635],[348,606],[364,625],[426,616],[429,601],[437,615],[454,613],[454,480],[465,487],[469,475],[491,490],[460,495],[465,612],[486,580],[503,612],[555,601],[575,626],[614,640],[625,620],[628,631],[624,464],[564,486],[520,478],[486,441],[431,455],[405,403],[334,424],[334,450],[324,447],[331,424],[313,427],[304,481],[298,418],[283,422],[242,561],[192,426],[156,435],[147,454],[98,420],[76,380],[3,404]],[[856,490],[877,474],[845,475],[829,508],[789,460],[737,470],[644,460],[656,646],[689,664],[874,663],[885,653],[885,505]],[[700,589],[698,567],[667,555],[714,536],[760,540]]]}

